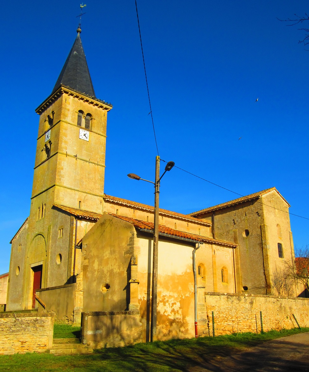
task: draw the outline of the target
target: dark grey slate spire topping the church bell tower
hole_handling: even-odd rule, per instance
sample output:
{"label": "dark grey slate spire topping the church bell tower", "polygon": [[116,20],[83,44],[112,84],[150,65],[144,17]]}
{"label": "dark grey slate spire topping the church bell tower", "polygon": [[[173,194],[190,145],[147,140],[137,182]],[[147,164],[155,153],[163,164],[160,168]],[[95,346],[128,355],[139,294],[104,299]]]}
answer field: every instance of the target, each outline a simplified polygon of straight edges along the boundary
{"label": "dark grey slate spire topping the church bell tower", "polygon": [[82,32],[82,30],[78,28],[77,38],[75,39],[73,47],[61,70],[52,93],[54,93],[60,87],[60,84],[62,84],[66,87],[77,90],[77,92],[85,93],[88,96],[95,96],[82,40],[80,39],[80,32]]}

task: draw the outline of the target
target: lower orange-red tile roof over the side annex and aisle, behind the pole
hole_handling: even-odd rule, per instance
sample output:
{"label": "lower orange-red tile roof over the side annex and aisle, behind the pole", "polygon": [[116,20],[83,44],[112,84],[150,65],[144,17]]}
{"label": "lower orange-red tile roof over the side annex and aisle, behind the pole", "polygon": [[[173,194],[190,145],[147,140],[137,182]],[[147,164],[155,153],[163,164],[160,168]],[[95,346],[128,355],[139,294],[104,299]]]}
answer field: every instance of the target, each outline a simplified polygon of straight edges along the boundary
{"label": "lower orange-red tile roof over the side annex and aisle, behind the pole", "polygon": [[[146,229],[146,230],[153,231],[153,223],[152,222],[140,221],[139,219],[120,216],[120,215],[114,214],[114,213],[108,213],[108,214],[113,216],[113,217],[117,217],[119,219],[122,219],[123,221],[130,222],[130,224],[134,225],[138,229]],[[172,236],[175,236],[175,237],[178,237],[178,238],[200,241],[200,242],[203,242],[203,243],[211,243],[211,244],[217,244],[217,245],[220,245],[220,246],[228,246],[228,247],[235,247],[235,248],[238,247],[237,244],[232,243],[230,241],[218,240],[218,239],[213,239],[213,238],[209,238],[209,237],[202,236],[202,235],[190,234],[189,232],[184,232],[184,231],[178,231],[178,230],[171,229],[169,227],[166,227],[165,225],[159,225],[159,233],[172,235]]]}

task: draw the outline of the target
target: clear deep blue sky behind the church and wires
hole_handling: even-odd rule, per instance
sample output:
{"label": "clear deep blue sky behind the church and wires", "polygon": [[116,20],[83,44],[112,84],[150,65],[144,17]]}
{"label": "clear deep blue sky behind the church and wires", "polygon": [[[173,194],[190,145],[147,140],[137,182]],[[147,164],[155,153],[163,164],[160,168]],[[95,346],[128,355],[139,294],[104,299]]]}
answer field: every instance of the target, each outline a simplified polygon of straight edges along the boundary
{"label": "clear deep blue sky behind the church and wires", "polygon": [[[1,5],[1,261],[29,214],[39,117],[76,38],[77,1]],[[82,42],[108,115],[105,193],[153,204],[156,147],[134,0],[86,1]],[[308,62],[302,31],[285,19],[308,1],[138,1],[161,158],[248,195],[277,187],[290,212],[308,212]],[[255,103],[259,97],[258,103]],[[240,141],[238,138],[242,137]],[[163,165],[163,164],[162,164]],[[182,213],[237,198],[173,169],[160,207]],[[291,216],[294,244],[309,220]]]}

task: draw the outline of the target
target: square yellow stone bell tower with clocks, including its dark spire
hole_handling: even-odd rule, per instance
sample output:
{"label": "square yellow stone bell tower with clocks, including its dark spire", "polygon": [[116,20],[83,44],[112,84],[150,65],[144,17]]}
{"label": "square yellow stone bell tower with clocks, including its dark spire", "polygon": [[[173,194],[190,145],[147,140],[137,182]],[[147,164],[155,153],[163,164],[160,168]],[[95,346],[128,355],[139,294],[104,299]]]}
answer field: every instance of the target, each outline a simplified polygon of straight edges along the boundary
{"label": "square yellow stone bell tower with clocks, including its dark spire", "polygon": [[40,119],[30,216],[36,215],[32,208],[45,213],[47,203],[102,213],[112,105],[95,97],[80,32],[51,95],[35,110]]}

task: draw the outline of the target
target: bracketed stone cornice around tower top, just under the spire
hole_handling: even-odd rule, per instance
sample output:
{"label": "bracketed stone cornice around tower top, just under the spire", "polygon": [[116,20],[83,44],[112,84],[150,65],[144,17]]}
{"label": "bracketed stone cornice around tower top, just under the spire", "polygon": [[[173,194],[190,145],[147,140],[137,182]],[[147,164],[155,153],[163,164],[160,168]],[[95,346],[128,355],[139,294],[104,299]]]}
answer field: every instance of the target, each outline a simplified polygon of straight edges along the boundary
{"label": "bracketed stone cornice around tower top, just under the spire", "polygon": [[106,103],[104,101],[99,100],[98,98],[87,96],[87,94],[83,94],[77,92],[74,89],[61,85],[56,92],[52,93],[47,99],[41,103],[36,109],[35,112],[41,115],[45,110],[47,110],[62,94],[67,94],[68,96],[73,96],[73,98],[77,98],[79,100],[83,100],[83,102],[87,102],[89,105],[97,106],[98,108],[102,108],[102,110],[109,111],[113,108],[111,103]]}

